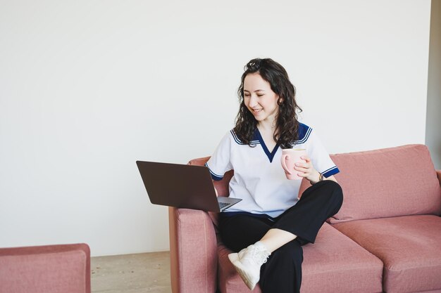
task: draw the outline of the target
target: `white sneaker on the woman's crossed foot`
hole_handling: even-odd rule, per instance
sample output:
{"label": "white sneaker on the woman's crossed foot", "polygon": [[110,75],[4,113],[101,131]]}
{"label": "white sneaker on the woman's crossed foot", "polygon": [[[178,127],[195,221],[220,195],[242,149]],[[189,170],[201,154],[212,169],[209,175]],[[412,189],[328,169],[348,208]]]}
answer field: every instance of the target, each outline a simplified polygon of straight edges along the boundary
{"label": "white sneaker on the woman's crossed foot", "polygon": [[261,266],[266,263],[270,254],[265,245],[258,241],[254,245],[242,249],[239,253],[228,254],[228,259],[235,266],[245,285],[252,290],[259,282]]}

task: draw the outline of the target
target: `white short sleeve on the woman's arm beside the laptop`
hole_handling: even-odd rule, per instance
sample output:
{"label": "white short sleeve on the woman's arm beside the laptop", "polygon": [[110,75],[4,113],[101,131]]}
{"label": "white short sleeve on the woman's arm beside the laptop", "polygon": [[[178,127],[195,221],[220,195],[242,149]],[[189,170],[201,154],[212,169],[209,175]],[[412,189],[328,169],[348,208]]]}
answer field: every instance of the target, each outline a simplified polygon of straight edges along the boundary
{"label": "white short sleeve on the woman's arm beside the laptop", "polygon": [[231,134],[228,132],[228,134],[225,134],[225,136],[222,138],[221,143],[219,143],[209,161],[205,164],[206,167],[209,168],[213,180],[222,180],[225,172],[232,169],[230,158]]}

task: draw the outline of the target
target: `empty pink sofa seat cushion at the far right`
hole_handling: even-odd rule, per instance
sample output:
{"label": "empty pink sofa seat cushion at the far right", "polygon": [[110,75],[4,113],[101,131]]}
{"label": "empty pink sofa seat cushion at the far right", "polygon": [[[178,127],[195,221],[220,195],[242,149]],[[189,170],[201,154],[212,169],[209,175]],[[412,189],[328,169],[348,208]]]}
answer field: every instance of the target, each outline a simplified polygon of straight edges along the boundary
{"label": "empty pink sofa seat cushion at the far right", "polygon": [[433,215],[359,220],[334,225],[378,256],[387,293],[441,289],[441,218]]}

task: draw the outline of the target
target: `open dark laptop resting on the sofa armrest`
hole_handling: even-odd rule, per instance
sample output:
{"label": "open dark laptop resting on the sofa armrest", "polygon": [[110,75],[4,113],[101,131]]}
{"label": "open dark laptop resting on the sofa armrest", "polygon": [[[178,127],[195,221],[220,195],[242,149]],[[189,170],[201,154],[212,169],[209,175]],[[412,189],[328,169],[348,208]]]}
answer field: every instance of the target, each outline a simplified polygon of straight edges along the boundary
{"label": "open dark laptop resting on the sofa armrest", "polygon": [[137,161],[152,204],[225,211],[241,199],[217,197],[208,167]]}

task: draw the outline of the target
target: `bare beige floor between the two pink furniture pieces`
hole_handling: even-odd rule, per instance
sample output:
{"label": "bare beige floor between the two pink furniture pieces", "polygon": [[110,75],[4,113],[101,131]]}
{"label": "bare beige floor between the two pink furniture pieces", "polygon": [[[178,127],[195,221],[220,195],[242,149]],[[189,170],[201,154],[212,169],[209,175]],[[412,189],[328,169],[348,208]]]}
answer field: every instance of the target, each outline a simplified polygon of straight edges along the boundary
{"label": "bare beige floor between the two pink furniture pieces", "polygon": [[171,293],[170,252],[92,257],[91,271],[92,292]]}

